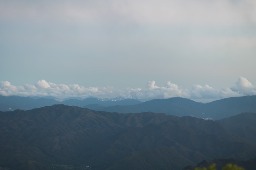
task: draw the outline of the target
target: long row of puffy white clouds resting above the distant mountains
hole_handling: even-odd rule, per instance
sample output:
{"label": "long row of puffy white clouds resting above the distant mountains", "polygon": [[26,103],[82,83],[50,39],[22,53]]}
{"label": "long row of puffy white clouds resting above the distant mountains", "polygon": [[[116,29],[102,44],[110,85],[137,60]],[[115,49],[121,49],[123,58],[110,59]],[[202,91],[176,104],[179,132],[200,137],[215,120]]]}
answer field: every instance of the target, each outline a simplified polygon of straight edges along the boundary
{"label": "long row of puffy white clouds resting above the distant mountains", "polygon": [[209,85],[193,85],[191,89],[184,89],[170,81],[165,86],[157,86],[155,81],[149,81],[145,88],[127,88],[119,90],[113,86],[108,87],[84,87],[77,84],[54,84],[40,80],[35,84],[23,86],[12,85],[8,81],[0,82],[0,95],[3,96],[53,96],[66,97],[98,97],[98,98],[134,98],[138,100],[151,100],[155,98],[184,97],[192,99],[220,99],[238,97],[244,95],[256,95],[256,86],[246,78],[240,77],[234,86],[229,88],[214,89]]}

